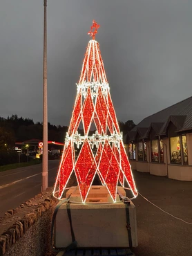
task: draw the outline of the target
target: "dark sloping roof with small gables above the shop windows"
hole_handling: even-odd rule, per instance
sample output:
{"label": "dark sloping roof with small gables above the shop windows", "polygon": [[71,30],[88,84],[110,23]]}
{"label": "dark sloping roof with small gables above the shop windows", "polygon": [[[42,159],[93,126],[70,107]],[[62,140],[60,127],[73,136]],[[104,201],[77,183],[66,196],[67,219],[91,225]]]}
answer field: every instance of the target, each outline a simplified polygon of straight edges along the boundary
{"label": "dark sloping roof with small gables above the shop windows", "polygon": [[[131,131],[138,131],[141,134],[141,129],[147,128],[146,138],[153,128],[156,135],[163,135],[166,134],[170,122],[173,122],[177,132],[192,130],[192,97],[144,118]],[[144,135],[142,134],[140,138],[144,138]]]}

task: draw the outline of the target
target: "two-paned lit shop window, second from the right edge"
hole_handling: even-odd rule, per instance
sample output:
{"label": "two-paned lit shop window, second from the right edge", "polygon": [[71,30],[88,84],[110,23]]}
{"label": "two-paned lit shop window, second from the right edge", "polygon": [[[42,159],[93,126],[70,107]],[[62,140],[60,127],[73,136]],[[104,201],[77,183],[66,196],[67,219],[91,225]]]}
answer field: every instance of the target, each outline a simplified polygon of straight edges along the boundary
{"label": "two-paned lit shop window, second from the right edge", "polygon": [[162,140],[151,141],[151,162],[164,163]]}

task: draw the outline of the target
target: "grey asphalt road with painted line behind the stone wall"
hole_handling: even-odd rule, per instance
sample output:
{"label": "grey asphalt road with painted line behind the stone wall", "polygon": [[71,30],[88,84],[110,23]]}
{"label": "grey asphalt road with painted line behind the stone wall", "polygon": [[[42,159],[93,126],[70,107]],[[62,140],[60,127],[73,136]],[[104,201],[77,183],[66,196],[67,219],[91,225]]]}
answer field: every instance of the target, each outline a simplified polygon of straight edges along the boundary
{"label": "grey asphalt road with painted line behind the stone wall", "polygon": [[[59,161],[48,161],[48,185],[55,183]],[[0,217],[41,192],[42,165],[0,172]]]}

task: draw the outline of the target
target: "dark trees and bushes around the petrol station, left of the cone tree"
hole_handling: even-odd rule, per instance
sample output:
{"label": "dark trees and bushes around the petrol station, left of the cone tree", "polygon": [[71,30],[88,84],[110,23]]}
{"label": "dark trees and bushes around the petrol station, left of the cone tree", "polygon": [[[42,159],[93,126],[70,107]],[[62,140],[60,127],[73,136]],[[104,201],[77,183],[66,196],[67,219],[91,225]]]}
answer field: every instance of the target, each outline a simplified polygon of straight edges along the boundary
{"label": "dark trees and bushes around the petrol station, left of the cone tree", "polygon": [[[48,140],[64,143],[68,127],[56,127],[48,122]],[[19,118],[12,115],[8,118],[0,117],[0,165],[8,165],[10,163],[18,163],[19,155],[15,152],[15,142],[30,139],[42,140],[43,125],[40,122],[36,124],[30,118]],[[58,146],[59,147],[59,146]],[[57,145],[52,147],[57,149]],[[23,146],[23,152],[27,153],[27,149]],[[49,156],[49,159],[55,159],[56,156]],[[58,156],[59,158],[59,156]],[[30,157],[26,154],[20,155],[20,162],[30,161]]]}

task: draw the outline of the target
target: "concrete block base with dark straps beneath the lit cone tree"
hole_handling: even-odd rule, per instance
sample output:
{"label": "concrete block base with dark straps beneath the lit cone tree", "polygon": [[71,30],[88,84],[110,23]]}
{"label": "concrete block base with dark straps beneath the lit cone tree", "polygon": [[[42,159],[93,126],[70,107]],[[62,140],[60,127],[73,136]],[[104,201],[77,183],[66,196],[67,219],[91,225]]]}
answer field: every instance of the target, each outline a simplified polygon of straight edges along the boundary
{"label": "concrete block base with dark straps beneath the lit cone tree", "polygon": [[[119,190],[121,190],[121,194],[125,194],[121,187]],[[75,194],[76,192],[77,194]],[[71,201],[81,201],[78,189],[76,192],[73,188]],[[137,246],[135,205],[131,202],[127,211],[126,205],[122,202],[102,203],[102,200],[106,198],[110,200],[110,197],[105,187],[93,186],[88,202],[99,201],[99,203],[70,203],[72,226],[78,248],[128,248],[131,246],[129,241],[132,242],[133,247]],[[129,212],[128,219],[131,226],[129,239],[127,212]],[[55,247],[66,248],[71,242],[70,223],[66,203],[64,203],[59,208],[55,219]]]}

